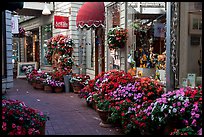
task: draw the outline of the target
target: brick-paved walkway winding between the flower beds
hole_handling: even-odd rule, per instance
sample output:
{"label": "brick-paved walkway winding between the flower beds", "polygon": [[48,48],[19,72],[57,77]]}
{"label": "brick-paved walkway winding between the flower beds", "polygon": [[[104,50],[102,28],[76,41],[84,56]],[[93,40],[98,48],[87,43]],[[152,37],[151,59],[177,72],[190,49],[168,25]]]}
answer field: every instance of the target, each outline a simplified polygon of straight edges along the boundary
{"label": "brick-paved walkway winding between the flower beds", "polygon": [[14,79],[14,87],[5,95],[47,113],[45,135],[122,135],[116,128],[101,127],[97,112],[77,94],[48,93],[34,89],[25,79]]}

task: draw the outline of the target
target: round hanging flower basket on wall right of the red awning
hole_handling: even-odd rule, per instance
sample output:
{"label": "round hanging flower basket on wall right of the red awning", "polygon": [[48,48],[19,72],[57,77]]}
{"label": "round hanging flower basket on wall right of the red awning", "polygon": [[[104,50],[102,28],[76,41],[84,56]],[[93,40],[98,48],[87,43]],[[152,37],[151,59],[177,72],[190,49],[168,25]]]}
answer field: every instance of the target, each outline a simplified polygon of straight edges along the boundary
{"label": "round hanging flower basket on wall right of the red awning", "polygon": [[127,41],[127,29],[120,27],[109,29],[107,40],[110,49],[124,48]]}

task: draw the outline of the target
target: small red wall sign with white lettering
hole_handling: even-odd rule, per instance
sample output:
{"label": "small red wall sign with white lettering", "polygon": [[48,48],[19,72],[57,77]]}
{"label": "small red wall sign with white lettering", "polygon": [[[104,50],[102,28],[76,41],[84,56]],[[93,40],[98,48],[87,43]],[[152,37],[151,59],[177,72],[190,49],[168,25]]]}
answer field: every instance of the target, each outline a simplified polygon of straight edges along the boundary
{"label": "small red wall sign with white lettering", "polygon": [[55,29],[69,29],[69,18],[64,16],[54,16]]}

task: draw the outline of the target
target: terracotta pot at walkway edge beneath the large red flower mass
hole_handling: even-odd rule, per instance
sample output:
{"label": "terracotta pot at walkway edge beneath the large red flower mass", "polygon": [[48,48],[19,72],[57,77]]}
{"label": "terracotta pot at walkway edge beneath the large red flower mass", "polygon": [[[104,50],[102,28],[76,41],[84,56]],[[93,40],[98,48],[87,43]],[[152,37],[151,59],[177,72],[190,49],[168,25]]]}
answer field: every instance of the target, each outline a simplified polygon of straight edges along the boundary
{"label": "terracotta pot at walkway edge beneath the large red flower mass", "polygon": [[98,112],[99,117],[101,118],[100,126],[101,127],[112,127],[112,125],[108,121],[108,117],[110,116],[110,111],[104,111],[104,110],[97,109],[97,112]]}

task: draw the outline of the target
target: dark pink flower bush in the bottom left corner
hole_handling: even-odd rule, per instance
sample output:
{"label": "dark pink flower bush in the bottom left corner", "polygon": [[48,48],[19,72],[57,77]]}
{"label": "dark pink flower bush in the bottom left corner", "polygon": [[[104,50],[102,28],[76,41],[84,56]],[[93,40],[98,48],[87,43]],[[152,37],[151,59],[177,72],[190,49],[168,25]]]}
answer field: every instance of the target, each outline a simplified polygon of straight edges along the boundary
{"label": "dark pink flower bush in the bottom left corner", "polygon": [[45,135],[47,116],[18,100],[2,100],[1,135]]}

